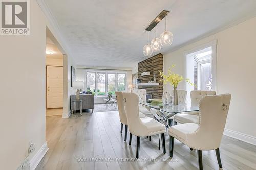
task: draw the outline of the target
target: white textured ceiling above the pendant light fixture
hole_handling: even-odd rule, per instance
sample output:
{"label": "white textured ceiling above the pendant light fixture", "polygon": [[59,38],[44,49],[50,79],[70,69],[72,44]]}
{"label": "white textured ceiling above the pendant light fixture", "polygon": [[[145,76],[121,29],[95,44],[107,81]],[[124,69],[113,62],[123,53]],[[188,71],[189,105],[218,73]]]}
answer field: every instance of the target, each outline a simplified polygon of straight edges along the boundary
{"label": "white textured ceiling above the pendant light fixture", "polygon": [[[45,2],[76,63],[85,66],[133,67],[146,59],[142,53],[147,43],[144,29],[162,10],[170,11],[167,30],[174,34],[173,44],[163,47],[162,53],[256,15],[255,0]],[[163,31],[161,21],[157,36]],[[153,29],[150,39],[154,35]]]}

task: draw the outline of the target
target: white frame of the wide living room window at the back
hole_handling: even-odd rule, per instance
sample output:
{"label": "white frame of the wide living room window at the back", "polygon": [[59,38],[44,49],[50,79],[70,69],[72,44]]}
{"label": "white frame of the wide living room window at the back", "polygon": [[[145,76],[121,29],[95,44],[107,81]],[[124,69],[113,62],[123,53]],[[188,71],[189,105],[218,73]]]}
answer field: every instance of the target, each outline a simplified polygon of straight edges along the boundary
{"label": "white frame of the wide living room window at the back", "polygon": [[[96,69],[85,69],[84,70],[84,89],[87,90],[87,72],[94,73],[95,74],[95,95],[94,97],[100,98],[100,97],[106,97],[108,96],[108,74],[115,74],[115,89],[117,90],[118,87],[118,74],[124,74],[125,75],[125,91],[127,90],[127,72],[126,71],[115,71],[115,70],[96,70]],[[105,74],[105,95],[98,95],[98,73]],[[113,95],[115,96],[115,94]]]}

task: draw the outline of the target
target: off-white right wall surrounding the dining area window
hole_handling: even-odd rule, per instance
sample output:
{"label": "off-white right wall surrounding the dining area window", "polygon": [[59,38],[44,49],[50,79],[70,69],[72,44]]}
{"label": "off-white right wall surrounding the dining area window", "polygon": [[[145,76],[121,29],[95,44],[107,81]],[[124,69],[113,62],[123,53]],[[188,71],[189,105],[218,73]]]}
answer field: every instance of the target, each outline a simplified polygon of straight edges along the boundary
{"label": "off-white right wall surrounding the dining area window", "polygon": [[[164,72],[170,65],[176,64],[174,71],[185,75],[184,51],[217,39],[217,93],[232,95],[225,132],[250,143],[256,141],[255,30],[256,17],[174,52],[164,53]],[[181,83],[179,88],[183,89],[184,84]],[[172,88],[165,85],[164,90]]]}

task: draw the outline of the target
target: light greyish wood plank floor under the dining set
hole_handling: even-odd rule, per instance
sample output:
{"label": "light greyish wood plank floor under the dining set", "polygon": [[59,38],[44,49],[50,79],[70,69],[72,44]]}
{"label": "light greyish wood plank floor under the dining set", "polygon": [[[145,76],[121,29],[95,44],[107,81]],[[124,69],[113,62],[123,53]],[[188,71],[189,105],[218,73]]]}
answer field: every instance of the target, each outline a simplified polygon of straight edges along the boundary
{"label": "light greyish wood plank floor under the dining set", "polygon": [[[140,158],[155,161],[77,161],[77,158],[135,158],[136,137],[131,147],[120,133],[117,111],[83,113],[80,117],[47,117],[46,136],[49,151],[39,163],[40,169],[198,169],[197,152],[175,139],[174,157],[168,159],[169,138],[166,136],[166,154],[158,150],[158,136],[152,141],[141,139]],[[123,129],[124,130],[124,129]],[[129,135],[128,135],[129,141]],[[223,169],[256,169],[256,147],[223,136],[221,147]],[[215,151],[203,151],[204,169],[219,169]]]}

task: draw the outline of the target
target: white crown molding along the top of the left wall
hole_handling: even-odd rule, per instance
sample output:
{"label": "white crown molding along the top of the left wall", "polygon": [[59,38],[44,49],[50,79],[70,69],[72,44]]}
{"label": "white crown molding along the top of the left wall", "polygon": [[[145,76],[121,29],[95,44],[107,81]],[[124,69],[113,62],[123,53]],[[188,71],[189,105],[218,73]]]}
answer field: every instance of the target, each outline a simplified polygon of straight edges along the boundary
{"label": "white crown molding along the top of the left wall", "polygon": [[58,41],[59,45],[64,50],[65,54],[72,57],[72,53],[70,51],[69,45],[67,44],[67,41],[63,37],[63,34],[61,33],[59,24],[55,17],[53,16],[49,6],[44,0],[36,0],[37,4],[41,8],[42,12],[45,14],[45,17],[47,18],[47,27],[51,31],[51,33],[54,35],[56,40]]}

